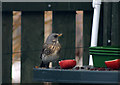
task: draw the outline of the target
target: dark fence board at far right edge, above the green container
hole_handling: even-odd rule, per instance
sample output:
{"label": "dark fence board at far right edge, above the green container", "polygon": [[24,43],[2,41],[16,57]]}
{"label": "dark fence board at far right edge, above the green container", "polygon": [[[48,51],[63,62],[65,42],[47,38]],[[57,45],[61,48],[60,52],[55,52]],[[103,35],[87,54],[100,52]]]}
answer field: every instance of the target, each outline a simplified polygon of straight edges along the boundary
{"label": "dark fence board at far right edge, above the green container", "polygon": [[112,25],[111,25],[111,45],[120,46],[120,18],[119,15],[120,2],[112,3]]}

